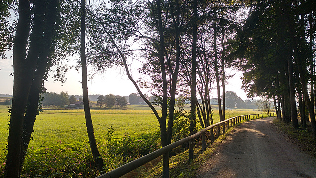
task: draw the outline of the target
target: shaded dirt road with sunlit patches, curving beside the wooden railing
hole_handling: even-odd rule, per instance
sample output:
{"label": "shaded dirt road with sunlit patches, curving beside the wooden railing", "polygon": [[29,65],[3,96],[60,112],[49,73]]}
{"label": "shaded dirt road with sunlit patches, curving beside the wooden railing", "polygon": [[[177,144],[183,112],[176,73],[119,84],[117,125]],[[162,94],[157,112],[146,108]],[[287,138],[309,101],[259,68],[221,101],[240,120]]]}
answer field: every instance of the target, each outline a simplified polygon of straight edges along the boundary
{"label": "shaded dirt road with sunlit patches, curving beside the wooden railing", "polygon": [[272,120],[238,126],[196,178],[316,178],[316,159],[287,142]]}

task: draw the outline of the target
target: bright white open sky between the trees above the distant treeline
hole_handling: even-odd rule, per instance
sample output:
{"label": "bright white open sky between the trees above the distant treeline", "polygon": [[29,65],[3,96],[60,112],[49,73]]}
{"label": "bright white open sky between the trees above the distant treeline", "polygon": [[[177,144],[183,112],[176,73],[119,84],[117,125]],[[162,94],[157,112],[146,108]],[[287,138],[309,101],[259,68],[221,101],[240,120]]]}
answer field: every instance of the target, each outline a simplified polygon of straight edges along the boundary
{"label": "bright white open sky between the trees above the distant treeline", "polygon": [[[0,59],[0,94],[12,94],[13,91],[13,73],[12,59],[8,57],[7,59]],[[137,64],[132,70],[132,75],[139,78],[137,72]],[[133,67],[133,65],[132,65]],[[108,69],[105,73],[98,73],[94,78],[88,81],[88,92],[90,95],[107,95],[114,94],[120,96],[129,96],[131,93],[137,93],[135,86],[128,79],[127,75],[124,73],[122,67],[113,67]],[[241,72],[233,69],[227,69],[227,74],[235,74],[233,78],[227,80],[228,84],[226,86],[226,91],[234,91],[237,96],[243,100],[247,99],[246,93],[241,89]],[[60,81],[54,81],[53,73],[50,72],[50,77],[48,82],[45,82],[45,87],[48,92],[60,93],[61,91],[67,91],[69,95],[82,95],[82,81],[81,72],[78,73],[75,69],[71,69],[66,74],[66,82],[61,83]],[[145,93],[150,94],[148,91]],[[211,93],[211,97],[217,98],[216,89]]]}

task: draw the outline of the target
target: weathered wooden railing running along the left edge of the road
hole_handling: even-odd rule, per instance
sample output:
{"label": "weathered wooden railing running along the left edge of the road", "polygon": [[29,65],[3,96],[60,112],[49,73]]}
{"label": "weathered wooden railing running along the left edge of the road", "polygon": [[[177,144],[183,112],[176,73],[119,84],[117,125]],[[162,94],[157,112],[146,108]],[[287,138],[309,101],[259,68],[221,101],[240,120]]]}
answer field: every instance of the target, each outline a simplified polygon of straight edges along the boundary
{"label": "weathered wooden railing running along the left edge of the road", "polygon": [[167,152],[171,151],[172,149],[174,149],[180,145],[183,145],[183,144],[185,144],[193,139],[196,139],[201,135],[202,135],[202,149],[205,150],[206,149],[206,137],[205,137],[206,131],[210,130],[211,141],[214,142],[215,141],[214,129],[213,129],[214,127],[217,127],[217,132],[219,135],[221,135],[221,130],[220,130],[221,125],[222,125],[222,129],[223,129],[223,133],[225,133],[226,126],[227,126],[227,129],[229,129],[230,127],[239,123],[241,120],[251,119],[251,116],[253,119],[260,118],[260,115],[261,115],[261,117],[263,117],[262,114],[240,115],[240,116],[232,117],[232,118],[226,119],[224,121],[218,122],[216,124],[210,125],[204,129],[202,129],[201,131],[197,132],[196,134],[190,135],[184,139],[181,139],[177,142],[169,144],[163,148],[160,148],[154,152],[151,152],[151,153],[149,153],[143,157],[140,157],[134,161],[126,163],[126,164],[124,164],[124,165],[122,165],[122,166],[120,166],[112,171],[109,171],[105,174],[102,174],[96,178],[119,178],[120,176],[123,176],[126,173],[135,170],[136,168],[148,163],[149,161],[152,161],[155,158],[158,158],[159,156],[163,155],[164,153],[167,153]]}

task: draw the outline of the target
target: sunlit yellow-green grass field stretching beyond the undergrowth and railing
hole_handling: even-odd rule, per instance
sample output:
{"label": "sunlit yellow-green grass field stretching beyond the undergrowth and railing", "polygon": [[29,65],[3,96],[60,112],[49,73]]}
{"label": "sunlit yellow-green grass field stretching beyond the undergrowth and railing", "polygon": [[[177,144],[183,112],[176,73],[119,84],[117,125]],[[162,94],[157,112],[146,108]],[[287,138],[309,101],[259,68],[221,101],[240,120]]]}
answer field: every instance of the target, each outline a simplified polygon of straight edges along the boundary
{"label": "sunlit yellow-green grass field stretching beyond the undergrowth and railing", "polygon": [[[3,150],[0,152],[0,163],[5,161],[4,149],[7,144],[7,123],[9,118],[7,107],[8,106],[0,106],[0,150]],[[188,110],[189,107],[185,109]],[[35,121],[34,132],[32,133],[34,140],[30,141],[30,149],[53,147],[60,144],[82,145],[82,143],[86,142],[84,149],[86,152],[89,152],[84,111],[82,109],[44,108],[43,110],[44,111],[37,116]],[[159,108],[157,108],[157,110],[160,112]],[[252,109],[226,110],[226,118],[253,113],[262,112],[253,111]],[[99,143],[108,139],[108,130],[111,126],[114,128],[113,135],[121,138],[126,134],[139,135],[140,133],[158,132],[159,130],[157,119],[154,114],[152,114],[150,108],[145,105],[129,105],[123,110],[91,110],[91,115],[95,137]],[[219,121],[218,111],[214,111],[213,118],[214,123]]]}

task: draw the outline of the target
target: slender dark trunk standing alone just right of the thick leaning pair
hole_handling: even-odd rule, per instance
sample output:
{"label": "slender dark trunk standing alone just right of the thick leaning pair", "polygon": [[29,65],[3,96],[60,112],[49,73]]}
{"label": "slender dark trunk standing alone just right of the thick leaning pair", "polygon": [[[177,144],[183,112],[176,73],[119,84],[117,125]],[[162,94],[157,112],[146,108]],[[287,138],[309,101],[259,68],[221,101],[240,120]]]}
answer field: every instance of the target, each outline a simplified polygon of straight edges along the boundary
{"label": "slender dark trunk standing alone just right of the thick leaning pair", "polygon": [[103,170],[104,163],[102,156],[98,150],[96,140],[94,137],[94,129],[92,124],[90,106],[89,106],[89,95],[88,95],[88,74],[87,74],[87,64],[86,64],[86,56],[85,56],[85,0],[81,0],[81,65],[82,65],[82,91],[83,91],[83,106],[84,106],[84,116],[85,123],[87,127],[88,137],[91,152],[93,158],[95,160],[96,166],[99,171]]}

